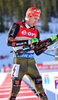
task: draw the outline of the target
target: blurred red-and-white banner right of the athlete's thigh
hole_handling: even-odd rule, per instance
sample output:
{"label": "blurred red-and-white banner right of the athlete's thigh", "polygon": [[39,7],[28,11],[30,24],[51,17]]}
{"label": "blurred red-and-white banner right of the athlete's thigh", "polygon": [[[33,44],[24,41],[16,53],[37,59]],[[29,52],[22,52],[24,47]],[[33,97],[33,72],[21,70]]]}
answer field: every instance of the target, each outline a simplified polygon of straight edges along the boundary
{"label": "blurred red-and-white banner right of the athlete's thigh", "polygon": [[51,69],[58,69],[58,64],[36,64],[39,70],[51,70]]}

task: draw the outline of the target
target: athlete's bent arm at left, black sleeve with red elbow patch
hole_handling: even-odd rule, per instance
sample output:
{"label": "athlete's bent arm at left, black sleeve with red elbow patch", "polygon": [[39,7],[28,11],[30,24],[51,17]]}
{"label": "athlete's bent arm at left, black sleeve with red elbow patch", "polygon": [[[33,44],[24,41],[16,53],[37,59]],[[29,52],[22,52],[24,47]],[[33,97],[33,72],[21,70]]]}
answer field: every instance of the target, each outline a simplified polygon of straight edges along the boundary
{"label": "athlete's bent arm at left, black sleeve with red elbow patch", "polygon": [[22,46],[22,45],[28,44],[28,40],[17,40],[17,39],[15,39],[19,29],[20,29],[20,26],[17,23],[14,23],[11,26],[9,33],[8,33],[8,36],[7,36],[7,45],[8,46],[15,47],[15,46]]}

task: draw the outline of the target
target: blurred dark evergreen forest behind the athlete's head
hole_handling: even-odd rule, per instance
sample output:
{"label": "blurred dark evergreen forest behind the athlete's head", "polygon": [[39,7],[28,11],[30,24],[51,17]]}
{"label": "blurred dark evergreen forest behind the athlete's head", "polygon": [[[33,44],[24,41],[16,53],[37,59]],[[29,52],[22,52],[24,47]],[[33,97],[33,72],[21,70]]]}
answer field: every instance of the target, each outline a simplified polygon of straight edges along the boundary
{"label": "blurred dark evergreen forest behind the athlete's head", "polygon": [[32,6],[41,9],[43,31],[49,31],[49,22],[58,22],[58,0],[0,0],[0,32],[9,29],[9,22],[12,24],[24,19],[26,10]]}

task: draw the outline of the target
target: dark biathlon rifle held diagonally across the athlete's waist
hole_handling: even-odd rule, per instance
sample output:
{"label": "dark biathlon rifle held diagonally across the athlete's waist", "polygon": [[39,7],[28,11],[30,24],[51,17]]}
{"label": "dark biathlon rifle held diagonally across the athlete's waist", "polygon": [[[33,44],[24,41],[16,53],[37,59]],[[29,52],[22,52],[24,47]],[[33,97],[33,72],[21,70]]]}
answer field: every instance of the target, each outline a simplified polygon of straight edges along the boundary
{"label": "dark biathlon rifle held diagonally across the athlete's waist", "polygon": [[[39,52],[42,50],[43,52],[48,49],[48,46],[54,44],[56,41],[58,41],[58,35],[57,35],[57,39],[55,39],[54,41],[51,40],[51,38],[39,41],[38,44],[31,44],[31,45],[23,45],[23,49],[19,49],[17,51],[11,51],[15,54],[15,56],[20,56],[28,51],[31,50],[38,50]],[[42,52],[42,53],[43,53]]]}

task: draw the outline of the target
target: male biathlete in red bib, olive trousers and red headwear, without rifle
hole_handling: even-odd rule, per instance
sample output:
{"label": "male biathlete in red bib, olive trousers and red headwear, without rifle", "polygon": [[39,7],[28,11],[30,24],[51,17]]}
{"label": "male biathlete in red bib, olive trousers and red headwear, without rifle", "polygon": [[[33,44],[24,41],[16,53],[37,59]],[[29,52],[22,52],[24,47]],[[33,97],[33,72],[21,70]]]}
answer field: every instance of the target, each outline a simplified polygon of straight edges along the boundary
{"label": "male biathlete in red bib, olive trousers and red headwear, without rifle", "polygon": [[[39,31],[34,27],[40,18],[40,10],[30,7],[26,12],[26,17],[22,22],[15,22],[8,33],[7,45],[12,46],[16,52],[23,48],[23,45],[39,43]],[[34,86],[40,100],[48,100],[42,87],[42,78],[35,65],[34,52],[39,55],[41,52],[31,50],[21,56],[13,57],[13,68],[11,74],[11,91],[8,100],[15,100],[20,90],[21,80],[26,74]],[[18,84],[16,84],[16,82]]]}

